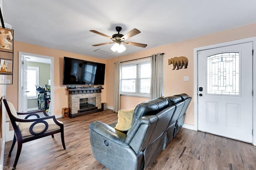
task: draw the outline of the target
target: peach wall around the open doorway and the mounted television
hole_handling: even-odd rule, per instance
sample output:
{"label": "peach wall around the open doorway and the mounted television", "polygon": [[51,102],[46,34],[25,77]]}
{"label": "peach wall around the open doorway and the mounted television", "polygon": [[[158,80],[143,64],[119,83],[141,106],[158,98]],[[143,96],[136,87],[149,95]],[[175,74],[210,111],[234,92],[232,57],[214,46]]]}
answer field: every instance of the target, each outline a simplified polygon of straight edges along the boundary
{"label": "peach wall around the open doorway and the mounted television", "polygon": [[[32,45],[28,43],[22,43],[18,41],[14,41],[14,66],[13,66],[13,84],[6,85],[6,98],[9,102],[14,104],[16,110],[18,110],[18,52],[32,53],[38,55],[45,55],[49,57],[54,57],[54,111],[52,114],[61,115],[62,108],[68,107],[68,92],[66,90],[66,86],[62,85],[62,74],[63,74],[63,58],[71,57],[76,59],[94,61],[98,63],[106,64],[106,60],[98,59],[95,57],[79,55],[75,53],[69,53],[66,51],[60,51],[56,49],[50,49],[42,46]],[[106,66],[107,67],[107,66]],[[106,77],[106,74],[105,74]],[[105,85],[103,85],[104,90],[102,90],[102,102],[106,102],[106,78]]]}

